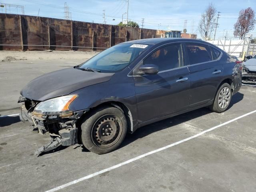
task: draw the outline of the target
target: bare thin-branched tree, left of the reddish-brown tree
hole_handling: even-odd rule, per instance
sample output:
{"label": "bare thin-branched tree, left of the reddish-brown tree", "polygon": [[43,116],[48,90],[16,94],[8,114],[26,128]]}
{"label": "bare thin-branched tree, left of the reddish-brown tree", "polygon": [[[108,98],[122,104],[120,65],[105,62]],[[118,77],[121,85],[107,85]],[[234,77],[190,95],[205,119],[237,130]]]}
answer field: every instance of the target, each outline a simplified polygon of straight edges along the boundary
{"label": "bare thin-branched tree, left of the reddish-brown tree", "polygon": [[210,3],[201,15],[198,30],[204,40],[210,39],[215,26],[216,13],[217,11],[214,4]]}

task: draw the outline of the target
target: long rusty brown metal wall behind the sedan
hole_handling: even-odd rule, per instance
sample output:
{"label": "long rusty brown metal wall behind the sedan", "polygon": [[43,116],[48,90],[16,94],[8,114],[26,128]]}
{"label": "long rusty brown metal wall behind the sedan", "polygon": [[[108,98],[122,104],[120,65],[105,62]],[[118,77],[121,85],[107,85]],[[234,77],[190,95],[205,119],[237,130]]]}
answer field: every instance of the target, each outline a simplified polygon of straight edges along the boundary
{"label": "long rusty brown metal wall behind the sedan", "polygon": [[0,50],[101,51],[152,37],[160,37],[157,30],[0,13]]}

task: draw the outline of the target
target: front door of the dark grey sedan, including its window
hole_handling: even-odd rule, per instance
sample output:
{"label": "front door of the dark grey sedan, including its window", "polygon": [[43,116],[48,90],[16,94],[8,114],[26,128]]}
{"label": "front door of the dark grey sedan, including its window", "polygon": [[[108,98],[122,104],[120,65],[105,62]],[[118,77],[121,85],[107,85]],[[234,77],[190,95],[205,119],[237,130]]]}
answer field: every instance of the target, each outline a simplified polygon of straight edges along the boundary
{"label": "front door of the dark grey sedan, including its window", "polygon": [[155,64],[158,74],[134,76],[138,122],[188,108],[189,71],[183,66],[181,44],[163,46],[143,64]]}

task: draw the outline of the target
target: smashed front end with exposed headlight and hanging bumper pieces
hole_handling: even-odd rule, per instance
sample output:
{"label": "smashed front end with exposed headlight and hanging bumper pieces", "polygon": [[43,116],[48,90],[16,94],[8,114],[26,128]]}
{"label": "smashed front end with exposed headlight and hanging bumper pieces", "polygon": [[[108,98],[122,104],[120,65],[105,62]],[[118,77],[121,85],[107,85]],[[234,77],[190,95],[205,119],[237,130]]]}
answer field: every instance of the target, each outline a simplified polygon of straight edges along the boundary
{"label": "smashed front end with exposed headlight and hanging bumper pieces", "polygon": [[[66,97],[66,98],[65,98]],[[44,102],[20,97],[20,120],[32,122],[39,134],[49,133],[51,142],[38,148],[36,155],[53,150],[59,146],[71,146],[78,143],[77,120],[89,109],[72,112],[69,104],[77,96],[62,96]],[[55,105],[55,106],[54,106]]]}

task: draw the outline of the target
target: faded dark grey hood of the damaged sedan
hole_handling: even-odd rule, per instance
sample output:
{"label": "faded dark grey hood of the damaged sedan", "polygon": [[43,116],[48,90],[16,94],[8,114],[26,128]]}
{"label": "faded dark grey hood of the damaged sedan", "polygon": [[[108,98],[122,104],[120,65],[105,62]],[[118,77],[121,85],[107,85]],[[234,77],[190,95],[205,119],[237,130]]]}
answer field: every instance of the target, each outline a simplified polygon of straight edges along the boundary
{"label": "faded dark grey hood of the damaged sedan", "polygon": [[66,68],[50,72],[30,81],[20,92],[26,98],[43,101],[68,95],[78,89],[106,82],[114,73],[98,73]]}

